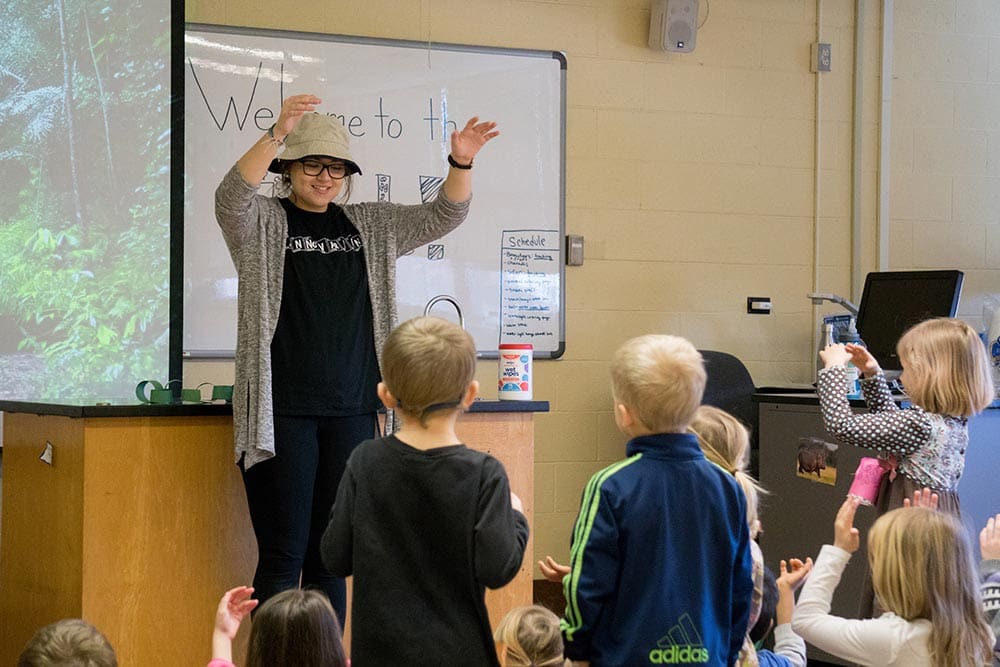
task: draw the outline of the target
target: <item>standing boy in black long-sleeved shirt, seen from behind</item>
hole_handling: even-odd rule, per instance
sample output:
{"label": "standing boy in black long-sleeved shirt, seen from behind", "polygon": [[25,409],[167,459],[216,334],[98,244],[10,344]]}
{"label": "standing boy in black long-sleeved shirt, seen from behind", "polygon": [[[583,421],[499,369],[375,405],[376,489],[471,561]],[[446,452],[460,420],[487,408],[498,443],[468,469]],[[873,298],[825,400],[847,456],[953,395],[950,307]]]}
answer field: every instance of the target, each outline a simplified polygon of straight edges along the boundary
{"label": "standing boy in black long-sleeved shirt, seen from behind", "polygon": [[321,547],[354,576],[355,667],[499,664],[485,588],[517,574],[528,522],[503,465],[455,435],[475,365],[472,338],[438,318],[386,340],[379,398],[403,426],[351,454]]}

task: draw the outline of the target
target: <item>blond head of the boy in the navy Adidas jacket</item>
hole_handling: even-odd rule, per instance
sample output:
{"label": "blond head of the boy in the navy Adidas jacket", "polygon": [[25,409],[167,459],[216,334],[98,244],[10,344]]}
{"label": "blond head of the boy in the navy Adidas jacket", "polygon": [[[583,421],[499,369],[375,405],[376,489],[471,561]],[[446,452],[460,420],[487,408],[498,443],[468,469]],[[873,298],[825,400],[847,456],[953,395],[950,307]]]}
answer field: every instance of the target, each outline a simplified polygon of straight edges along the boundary
{"label": "blond head of the boy in the navy Adidas jacket", "polygon": [[611,388],[653,433],[683,433],[705,392],[701,353],[679,336],[650,334],[626,341],[611,358]]}

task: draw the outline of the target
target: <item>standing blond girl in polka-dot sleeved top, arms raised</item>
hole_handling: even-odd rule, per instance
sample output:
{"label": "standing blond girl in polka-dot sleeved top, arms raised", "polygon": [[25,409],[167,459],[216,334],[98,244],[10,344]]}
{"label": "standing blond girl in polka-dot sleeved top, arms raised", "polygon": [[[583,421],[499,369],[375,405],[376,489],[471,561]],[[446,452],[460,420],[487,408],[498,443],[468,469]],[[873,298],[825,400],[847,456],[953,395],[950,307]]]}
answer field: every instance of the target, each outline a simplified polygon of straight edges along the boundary
{"label": "standing blond girl in polka-dot sleeved top, arms raised", "polygon": [[[895,464],[882,478],[879,515],[903,506],[904,498],[928,487],[939,508],[959,516],[958,482],[969,445],[968,418],[984,410],[994,396],[986,349],[975,330],[962,320],[936,318],[909,329],[896,345],[903,372],[900,381],[912,401],[900,408],[892,400],[882,369],[859,345],[829,345],[820,358],[817,393],[826,430],[841,442],[876,450]],[[855,414],[844,387],[845,364],[861,372],[869,412]],[[862,611],[868,605],[862,603]]]}

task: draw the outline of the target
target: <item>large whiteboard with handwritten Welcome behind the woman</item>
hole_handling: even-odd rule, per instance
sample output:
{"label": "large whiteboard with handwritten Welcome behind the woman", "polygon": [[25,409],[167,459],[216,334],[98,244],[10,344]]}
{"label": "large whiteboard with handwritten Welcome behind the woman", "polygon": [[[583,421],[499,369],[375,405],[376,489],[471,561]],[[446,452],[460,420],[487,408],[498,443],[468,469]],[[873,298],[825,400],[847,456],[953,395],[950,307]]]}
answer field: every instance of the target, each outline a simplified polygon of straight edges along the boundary
{"label": "large whiteboard with handwritten Welcome behind the woman", "polygon": [[[565,348],[565,87],[562,53],[187,24],[183,354],[232,356],[236,272],[215,188],[289,95],[351,134],[352,202],[419,203],[447,174],[451,130],[474,115],[501,136],[477,156],[466,221],[397,261],[399,319],[452,297],[480,356]],[[273,174],[261,191],[271,192]],[[431,310],[457,321],[440,302]]]}

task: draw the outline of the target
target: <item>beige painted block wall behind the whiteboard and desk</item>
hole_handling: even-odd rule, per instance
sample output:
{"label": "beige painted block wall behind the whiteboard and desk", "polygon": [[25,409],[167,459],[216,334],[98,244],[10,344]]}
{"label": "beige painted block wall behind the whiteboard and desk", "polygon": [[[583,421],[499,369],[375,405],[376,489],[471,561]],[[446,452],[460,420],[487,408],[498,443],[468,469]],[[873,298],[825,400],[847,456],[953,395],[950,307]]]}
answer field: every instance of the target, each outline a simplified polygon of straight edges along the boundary
{"label": "beige painted block wall behind the whiteboard and desk", "polygon": [[[584,483],[623,454],[607,373],[619,343],[677,333],[736,354],[758,386],[810,382],[820,311],[805,294],[852,292],[853,0],[825,0],[819,20],[805,0],[701,4],[695,52],[667,54],[646,47],[648,0],[185,3],[201,23],[566,53],[566,227],[586,262],[566,271],[566,354],[537,363],[552,408],[537,418],[538,555],[567,558]],[[863,4],[862,276],[880,250],[881,66],[879,3]],[[894,18],[884,268],[965,270],[962,314],[979,326],[981,295],[1000,291],[1000,9],[896,0]],[[817,30],[833,47],[822,75],[809,71]],[[773,314],[747,315],[747,296],[770,296]],[[494,386],[495,367],[479,370]],[[185,374],[194,386],[232,368]]]}

